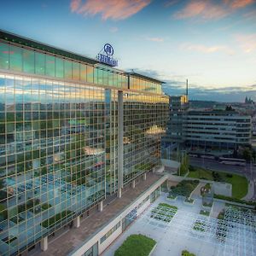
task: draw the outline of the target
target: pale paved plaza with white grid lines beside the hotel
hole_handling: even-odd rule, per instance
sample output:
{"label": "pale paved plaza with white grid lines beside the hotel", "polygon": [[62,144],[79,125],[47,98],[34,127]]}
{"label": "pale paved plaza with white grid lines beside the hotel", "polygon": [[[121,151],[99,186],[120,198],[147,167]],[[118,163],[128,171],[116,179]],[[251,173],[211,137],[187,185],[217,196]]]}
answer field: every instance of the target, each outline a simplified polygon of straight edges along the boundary
{"label": "pale paved plaza with white grid lines beside the hotel", "polygon": [[[177,210],[158,207],[155,211],[162,202],[176,206]],[[223,207],[216,201],[214,205],[218,209]],[[201,199],[189,206],[184,204],[183,198],[171,201],[162,194],[139,218],[131,216],[136,219],[130,228],[102,255],[112,256],[131,234],[143,234],[157,241],[153,256],[180,256],[183,250],[196,256],[256,255],[255,214],[227,208],[224,220],[218,220],[201,215],[201,207]],[[153,215],[160,218],[151,218]]]}

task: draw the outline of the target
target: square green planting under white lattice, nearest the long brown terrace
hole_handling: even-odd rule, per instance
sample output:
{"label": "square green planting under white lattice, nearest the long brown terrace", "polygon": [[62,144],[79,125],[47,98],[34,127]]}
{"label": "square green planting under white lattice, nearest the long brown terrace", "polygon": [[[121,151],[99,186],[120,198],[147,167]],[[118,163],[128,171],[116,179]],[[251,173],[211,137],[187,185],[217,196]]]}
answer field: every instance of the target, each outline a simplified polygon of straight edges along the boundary
{"label": "square green planting under white lattice, nearest the long brown terrace", "polygon": [[[170,209],[170,211],[169,211]],[[173,216],[177,212],[177,207],[168,205],[166,203],[160,203],[157,207],[151,211],[151,218],[156,218],[163,220],[165,222],[170,222]]]}

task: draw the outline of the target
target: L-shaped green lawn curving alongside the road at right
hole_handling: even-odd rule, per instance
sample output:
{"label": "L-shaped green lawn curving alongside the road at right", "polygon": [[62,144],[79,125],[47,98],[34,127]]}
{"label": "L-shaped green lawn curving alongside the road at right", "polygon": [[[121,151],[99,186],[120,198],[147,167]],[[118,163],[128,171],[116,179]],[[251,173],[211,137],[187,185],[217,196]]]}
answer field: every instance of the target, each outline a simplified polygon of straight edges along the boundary
{"label": "L-shaped green lawn curving alongside the road at right", "polygon": [[[214,177],[213,177],[213,175]],[[189,172],[188,177],[224,181],[232,184],[232,196],[241,199],[247,195],[248,183],[247,178],[237,174],[229,174],[227,172],[212,172],[201,168],[196,168],[194,172]],[[216,177],[217,180],[216,180]]]}

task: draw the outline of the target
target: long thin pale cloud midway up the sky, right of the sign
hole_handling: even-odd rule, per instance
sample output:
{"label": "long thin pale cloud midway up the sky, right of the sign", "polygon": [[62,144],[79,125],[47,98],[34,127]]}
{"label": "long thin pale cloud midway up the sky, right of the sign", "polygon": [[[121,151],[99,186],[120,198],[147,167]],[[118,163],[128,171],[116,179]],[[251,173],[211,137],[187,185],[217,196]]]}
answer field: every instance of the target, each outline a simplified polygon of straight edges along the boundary
{"label": "long thin pale cloud midway up the sky, right of the sign", "polygon": [[185,50],[198,51],[206,54],[215,53],[215,52],[224,52],[228,55],[234,55],[234,51],[224,45],[206,46],[203,44],[182,44],[180,48]]}

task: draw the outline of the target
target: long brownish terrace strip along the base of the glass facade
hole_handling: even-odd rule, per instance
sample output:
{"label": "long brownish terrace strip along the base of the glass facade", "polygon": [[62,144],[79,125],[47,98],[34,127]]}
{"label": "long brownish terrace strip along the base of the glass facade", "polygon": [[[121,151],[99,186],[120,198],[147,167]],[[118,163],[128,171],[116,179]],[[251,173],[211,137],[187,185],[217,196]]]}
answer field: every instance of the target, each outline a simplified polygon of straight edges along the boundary
{"label": "long brownish terrace strip along the base of the glass facade", "polygon": [[127,186],[121,198],[115,198],[110,203],[108,201],[103,202],[105,205],[102,212],[93,212],[88,218],[82,219],[78,229],[71,229],[55,239],[49,239],[48,250],[41,252],[38,249],[33,255],[55,256],[71,253],[97,230],[101,230],[104,224],[107,224],[109,220],[117,216],[119,212],[122,212],[125,207],[129,206],[139,195],[142,195],[143,192],[159,181],[161,177],[154,173],[148,173],[147,179],[140,179],[135,189]]}

